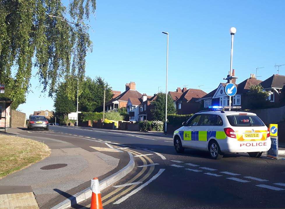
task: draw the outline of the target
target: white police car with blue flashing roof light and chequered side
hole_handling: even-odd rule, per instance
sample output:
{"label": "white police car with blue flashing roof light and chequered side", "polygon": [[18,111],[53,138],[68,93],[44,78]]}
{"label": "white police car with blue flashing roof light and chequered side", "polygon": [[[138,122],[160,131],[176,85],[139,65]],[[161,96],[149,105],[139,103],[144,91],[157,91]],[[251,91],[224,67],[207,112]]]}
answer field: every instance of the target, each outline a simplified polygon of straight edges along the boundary
{"label": "white police car with blue flashing roof light and chequered side", "polygon": [[224,108],[221,106],[213,108],[194,114],[174,132],[178,153],[194,148],[209,151],[212,159],[221,159],[224,153],[241,152],[260,157],[270,149],[269,129],[256,114],[217,110]]}

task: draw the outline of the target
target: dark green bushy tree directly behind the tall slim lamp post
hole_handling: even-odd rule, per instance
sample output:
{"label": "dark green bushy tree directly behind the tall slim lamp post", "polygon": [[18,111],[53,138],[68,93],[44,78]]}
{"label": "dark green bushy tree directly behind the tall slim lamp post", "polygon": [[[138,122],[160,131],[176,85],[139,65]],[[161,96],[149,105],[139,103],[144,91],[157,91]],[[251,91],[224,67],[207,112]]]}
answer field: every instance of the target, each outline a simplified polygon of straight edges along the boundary
{"label": "dark green bushy tree directly behind the tall slim lamp post", "polygon": [[[154,108],[151,109],[152,118],[158,121],[165,121],[165,93],[158,93],[156,100],[151,104]],[[167,114],[175,114],[176,109],[173,103],[173,99],[170,94],[167,96]]]}

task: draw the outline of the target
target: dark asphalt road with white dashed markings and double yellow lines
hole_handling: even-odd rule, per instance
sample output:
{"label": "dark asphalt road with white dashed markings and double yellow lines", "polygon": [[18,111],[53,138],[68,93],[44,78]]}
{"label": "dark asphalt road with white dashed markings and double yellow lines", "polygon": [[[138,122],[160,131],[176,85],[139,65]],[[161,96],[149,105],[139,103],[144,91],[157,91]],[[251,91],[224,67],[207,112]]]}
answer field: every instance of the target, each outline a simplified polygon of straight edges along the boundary
{"label": "dark asphalt road with white dashed markings and double yellow lines", "polygon": [[[108,130],[50,126],[49,132],[26,134],[84,141],[86,149],[88,141],[108,142],[135,155],[133,171],[101,191],[104,209],[285,208],[284,159],[240,153],[212,160],[207,152],[197,150],[176,153],[171,138]],[[89,204],[90,199],[75,208]]]}

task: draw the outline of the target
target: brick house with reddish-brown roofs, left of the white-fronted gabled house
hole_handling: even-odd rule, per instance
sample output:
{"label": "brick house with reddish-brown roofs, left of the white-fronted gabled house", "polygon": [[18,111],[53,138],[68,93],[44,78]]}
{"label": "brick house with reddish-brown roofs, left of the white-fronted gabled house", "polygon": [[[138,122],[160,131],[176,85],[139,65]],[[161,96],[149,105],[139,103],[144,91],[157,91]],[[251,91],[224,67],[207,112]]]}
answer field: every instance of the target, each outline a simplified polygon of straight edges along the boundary
{"label": "brick house with reddish-brown roofs, left of the white-fronted gabled house", "polygon": [[201,89],[177,87],[176,91],[169,91],[169,94],[174,101],[177,114],[184,115],[198,112],[200,103],[197,101],[207,93]]}

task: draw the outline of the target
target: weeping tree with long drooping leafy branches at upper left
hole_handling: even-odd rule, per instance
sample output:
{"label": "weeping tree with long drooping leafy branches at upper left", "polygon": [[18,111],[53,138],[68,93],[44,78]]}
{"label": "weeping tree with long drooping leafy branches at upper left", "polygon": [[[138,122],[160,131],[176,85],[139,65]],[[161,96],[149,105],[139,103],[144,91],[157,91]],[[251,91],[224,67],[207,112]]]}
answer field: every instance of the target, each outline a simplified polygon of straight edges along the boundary
{"label": "weeping tree with long drooping leafy branches at upper left", "polygon": [[[85,57],[92,51],[85,21],[95,9],[96,0],[70,0],[68,9],[61,0],[1,0],[0,83],[10,86],[15,70],[11,99],[25,95],[33,66],[49,96],[69,75],[83,80]],[[75,95],[73,84],[66,83],[69,97]]]}

